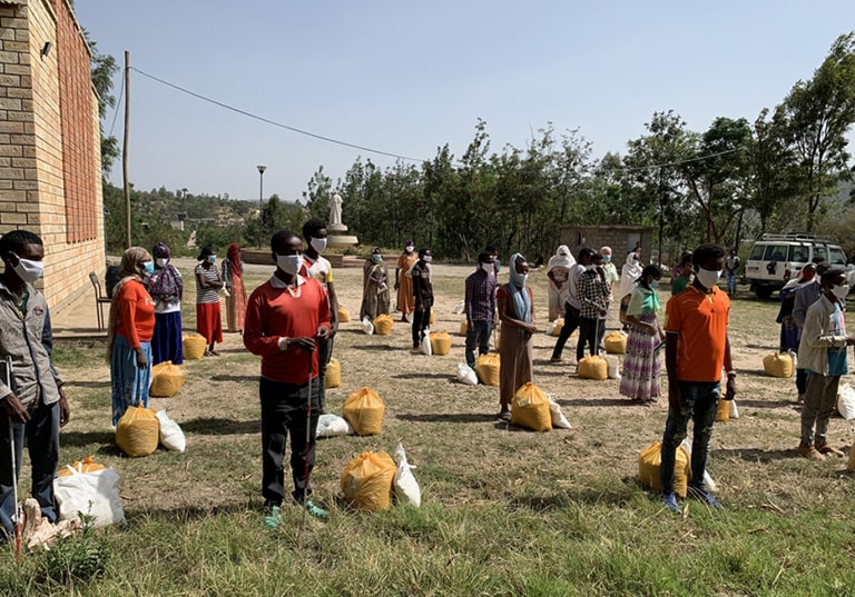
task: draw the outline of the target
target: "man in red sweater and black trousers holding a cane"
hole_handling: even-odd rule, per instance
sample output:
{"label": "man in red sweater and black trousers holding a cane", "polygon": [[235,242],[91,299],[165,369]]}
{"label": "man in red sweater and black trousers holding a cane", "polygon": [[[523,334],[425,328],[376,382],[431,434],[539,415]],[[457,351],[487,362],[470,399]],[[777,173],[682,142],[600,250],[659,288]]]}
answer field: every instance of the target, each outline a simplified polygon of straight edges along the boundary
{"label": "man in red sweater and black trousers holding a cane", "polygon": [[265,507],[271,509],[265,520],[276,527],[282,521],[283,460],[288,434],[292,496],[309,515],[326,518],[326,511],[308,499],[308,478],[315,462],[321,406],[317,345],[330,336],[330,306],[321,283],[297,273],[303,265],[303,241],[297,235],[288,230],[276,232],[271,249],[276,271],[249,297],[244,346],[262,357],[262,495]]}

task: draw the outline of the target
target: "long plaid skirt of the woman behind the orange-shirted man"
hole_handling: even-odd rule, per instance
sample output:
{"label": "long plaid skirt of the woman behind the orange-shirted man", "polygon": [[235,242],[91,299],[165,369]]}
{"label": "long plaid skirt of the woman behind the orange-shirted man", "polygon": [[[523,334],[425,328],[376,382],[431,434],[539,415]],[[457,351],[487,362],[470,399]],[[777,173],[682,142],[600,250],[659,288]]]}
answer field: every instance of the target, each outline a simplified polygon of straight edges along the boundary
{"label": "long plaid skirt of the woman behind the orange-shirted man", "polygon": [[[645,324],[656,325],[656,315],[639,318]],[[658,327],[658,326],[657,326]],[[659,364],[659,335],[650,335],[635,326],[629,329],[627,352],[620,377],[620,394],[637,400],[658,398],[662,394],[662,375]]]}

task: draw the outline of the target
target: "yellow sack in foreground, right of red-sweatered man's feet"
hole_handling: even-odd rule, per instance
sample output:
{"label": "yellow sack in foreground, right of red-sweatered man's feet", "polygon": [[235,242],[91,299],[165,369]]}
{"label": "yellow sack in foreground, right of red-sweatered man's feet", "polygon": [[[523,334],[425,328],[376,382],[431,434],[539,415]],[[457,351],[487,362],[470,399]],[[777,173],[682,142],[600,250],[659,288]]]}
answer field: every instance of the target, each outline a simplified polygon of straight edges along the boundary
{"label": "yellow sack in foreground, right of red-sweatered man's feet", "polygon": [[357,510],[387,510],[396,468],[384,451],[362,452],[342,470],[344,499]]}

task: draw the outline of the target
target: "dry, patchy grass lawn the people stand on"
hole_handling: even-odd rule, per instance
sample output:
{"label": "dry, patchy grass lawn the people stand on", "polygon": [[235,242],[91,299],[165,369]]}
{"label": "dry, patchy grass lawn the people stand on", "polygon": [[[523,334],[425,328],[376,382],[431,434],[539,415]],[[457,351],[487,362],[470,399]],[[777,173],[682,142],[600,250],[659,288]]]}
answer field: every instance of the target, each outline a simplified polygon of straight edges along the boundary
{"label": "dry, patchy grass lawn the people stand on", "polygon": [[[283,510],[281,528],[263,524],[259,359],[238,335],[226,335],[223,356],[188,361],[176,397],[151,399],[181,425],[186,454],[160,449],[138,459],[114,444],[105,344],[60,341],[56,361],[72,407],[61,461],[94,455],[114,467],[128,520],[78,541],[98,548],[87,555],[102,575],[88,580],[63,578],[56,557],[29,555],[18,566],[12,549],[0,550],[0,595],[855,593],[855,478],[845,459],[797,456],[794,380],[763,372],[763,357],[777,346],[775,301],[740,288],[731,310],[740,417],[717,425],[708,466],[725,509],[684,501],[674,515],[637,480],[639,451],[661,438],[666,400],[632,406],[618,381],[577,378],[574,338],[560,365],[549,362],[554,338],[541,332],[534,342],[534,381],[554,395],[570,430],[535,434],[500,424],[498,388],[454,380],[463,338],[453,308],[470,271],[435,268],[434,329],[453,338],[445,357],[410,355],[405,324],[390,336],[363,335],[362,271],[335,271],[340,301],[354,320],[335,340],[342,386],[327,391],[327,409],[340,414],[350,392],[367,386],[386,411],[380,436],[320,440],[313,486],[330,508],[326,523],[304,521],[293,507]],[[247,287],[268,273],[250,267]],[[546,276],[533,272],[530,282],[543,330]],[[190,288],[187,329],[195,325],[193,301]],[[613,315],[609,324],[617,327]],[[832,419],[834,446],[848,452],[853,438],[853,421]],[[361,451],[392,454],[399,440],[417,466],[422,507],[347,510],[338,498],[342,469]],[[22,495],[28,476],[26,459]]]}

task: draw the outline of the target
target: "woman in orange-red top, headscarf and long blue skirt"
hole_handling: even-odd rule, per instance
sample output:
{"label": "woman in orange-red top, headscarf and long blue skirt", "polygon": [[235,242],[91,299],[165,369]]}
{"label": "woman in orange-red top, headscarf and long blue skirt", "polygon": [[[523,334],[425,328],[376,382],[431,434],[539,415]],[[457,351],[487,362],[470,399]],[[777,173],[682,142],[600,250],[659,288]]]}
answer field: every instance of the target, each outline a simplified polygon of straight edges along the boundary
{"label": "woman in orange-red top, headscarf and long blue skirt", "polygon": [[142,281],[154,269],[151,256],[142,247],[131,247],[121,257],[120,280],[112,291],[107,328],[112,425],[119,422],[129,406],[141,402],[148,408],[155,304]]}

